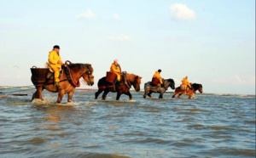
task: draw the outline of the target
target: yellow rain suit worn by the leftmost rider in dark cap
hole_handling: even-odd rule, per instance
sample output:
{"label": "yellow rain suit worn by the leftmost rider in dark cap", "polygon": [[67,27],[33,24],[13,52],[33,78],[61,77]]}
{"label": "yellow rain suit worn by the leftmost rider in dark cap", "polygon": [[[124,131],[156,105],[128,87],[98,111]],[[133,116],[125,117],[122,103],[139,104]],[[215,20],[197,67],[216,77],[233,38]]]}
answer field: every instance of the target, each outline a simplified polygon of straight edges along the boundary
{"label": "yellow rain suit worn by the leftmost rider in dark cap", "polygon": [[55,82],[60,82],[59,76],[61,71],[61,65],[63,64],[61,61],[61,64],[58,64],[58,61],[61,61],[61,56],[54,50],[49,52],[49,66],[50,68],[55,72]]}

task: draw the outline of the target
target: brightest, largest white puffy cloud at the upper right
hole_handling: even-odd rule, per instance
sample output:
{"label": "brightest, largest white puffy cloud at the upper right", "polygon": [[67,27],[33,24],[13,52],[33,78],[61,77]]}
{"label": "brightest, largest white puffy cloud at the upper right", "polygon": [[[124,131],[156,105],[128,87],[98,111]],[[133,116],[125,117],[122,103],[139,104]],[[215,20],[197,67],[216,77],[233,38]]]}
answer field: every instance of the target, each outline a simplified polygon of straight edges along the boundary
{"label": "brightest, largest white puffy cloud at the upper right", "polygon": [[173,3],[170,6],[171,16],[175,20],[195,20],[195,12],[183,3]]}

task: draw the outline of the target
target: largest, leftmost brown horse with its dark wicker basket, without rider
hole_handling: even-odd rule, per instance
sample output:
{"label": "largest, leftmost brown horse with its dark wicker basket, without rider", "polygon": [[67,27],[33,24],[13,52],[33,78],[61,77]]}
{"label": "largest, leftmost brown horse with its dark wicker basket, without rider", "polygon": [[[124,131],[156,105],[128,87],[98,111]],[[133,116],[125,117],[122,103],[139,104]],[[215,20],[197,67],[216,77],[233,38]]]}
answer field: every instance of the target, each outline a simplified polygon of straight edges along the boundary
{"label": "largest, leftmost brown horse with its dark wicker basket, without rider", "polygon": [[92,86],[94,84],[93,68],[90,64],[72,64],[70,61],[66,62],[63,66],[63,73],[60,76],[59,87],[55,87],[53,79],[53,73],[49,71],[49,68],[31,68],[32,76],[31,81],[37,88],[37,91],[33,93],[32,99],[42,99],[42,92],[44,89],[52,93],[58,93],[58,99],[56,103],[61,103],[62,97],[67,93],[67,101],[71,102],[75,87],[80,86],[79,79],[83,77],[84,82]]}

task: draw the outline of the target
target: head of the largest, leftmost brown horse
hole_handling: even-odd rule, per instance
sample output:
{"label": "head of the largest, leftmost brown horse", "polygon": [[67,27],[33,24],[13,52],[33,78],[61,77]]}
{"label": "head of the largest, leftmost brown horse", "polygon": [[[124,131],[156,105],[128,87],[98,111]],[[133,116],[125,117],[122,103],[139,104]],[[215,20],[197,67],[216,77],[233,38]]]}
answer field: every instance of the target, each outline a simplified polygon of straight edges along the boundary
{"label": "head of the largest, leftmost brown horse", "polygon": [[84,64],[84,66],[82,66],[84,69],[84,73],[82,74],[82,77],[84,79],[84,82],[89,85],[92,86],[94,84],[94,76],[93,76],[93,68],[90,64]]}

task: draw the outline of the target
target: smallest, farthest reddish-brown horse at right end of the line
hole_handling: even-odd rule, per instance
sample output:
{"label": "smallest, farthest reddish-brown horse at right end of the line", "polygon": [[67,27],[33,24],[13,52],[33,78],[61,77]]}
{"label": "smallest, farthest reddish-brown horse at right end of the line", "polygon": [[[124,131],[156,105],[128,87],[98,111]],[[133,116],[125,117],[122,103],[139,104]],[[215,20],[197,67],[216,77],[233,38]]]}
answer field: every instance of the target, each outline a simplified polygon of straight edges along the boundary
{"label": "smallest, farthest reddish-brown horse at right end of the line", "polygon": [[182,94],[189,95],[189,99],[193,99],[195,95],[195,91],[199,91],[200,93],[203,93],[203,88],[201,84],[193,83],[192,89],[189,87],[186,88],[186,90],[181,90],[180,87],[176,87],[174,94],[172,95],[172,98],[174,98],[177,95],[177,98],[180,98]]}

